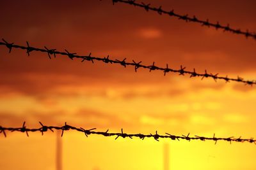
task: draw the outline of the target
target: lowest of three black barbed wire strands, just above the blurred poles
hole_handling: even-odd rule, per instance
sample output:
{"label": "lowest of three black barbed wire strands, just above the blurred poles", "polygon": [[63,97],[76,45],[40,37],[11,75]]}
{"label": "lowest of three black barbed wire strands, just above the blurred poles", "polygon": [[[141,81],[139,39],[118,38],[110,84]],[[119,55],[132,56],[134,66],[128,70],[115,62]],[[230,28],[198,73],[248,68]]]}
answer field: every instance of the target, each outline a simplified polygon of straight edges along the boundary
{"label": "lowest of three black barbed wire strands, just above the blurred poles", "polygon": [[29,129],[26,127],[26,122],[23,123],[22,127],[2,127],[0,126],[0,134],[3,133],[4,137],[7,136],[6,131],[10,131],[10,132],[26,132],[27,136],[29,137],[28,132],[41,132],[42,135],[44,135],[44,132],[47,132],[48,130],[54,132],[53,130],[60,130],[61,132],[61,137],[63,136],[64,131],[78,131],[78,132],[83,132],[84,135],[86,137],[88,137],[90,134],[97,134],[97,135],[102,135],[102,136],[115,136],[115,139],[118,139],[119,137],[122,138],[131,138],[133,139],[133,137],[135,138],[140,138],[140,139],[145,139],[145,138],[154,138],[156,141],[159,141],[160,138],[167,138],[167,139],[172,139],[172,140],[180,140],[180,139],[184,139],[187,141],[191,141],[191,140],[200,140],[200,141],[215,141],[215,144],[217,143],[217,141],[229,141],[230,144],[232,141],[235,142],[248,142],[248,143],[254,143],[256,144],[256,140],[253,138],[250,139],[242,139],[241,136],[239,138],[234,138],[234,137],[229,137],[229,138],[216,138],[215,134],[213,135],[212,138],[207,138],[204,136],[195,136],[195,137],[191,137],[188,135],[182,135],[182,136],[175,136],[172,134],[168,134],[165,133],[165,135],[161,135],[161,134],[127,134],[124,133],[123,129],[121,129],[121,132],[119,133],[111,133],[109,132],[109,130],[105,131],[105,132],[99,132],[99,131],[94,131],[96,130],[96,128],[92,128],[92,129],[83,129],[83,127],[77,128],[71,125],[68,125],[67,122],[65,122],[65,125],[63,126],[47,126],[42,124],[41,122],[39,122],[39,124],[41,125],[41,127],[39,128],[35,128],[35,129]]}

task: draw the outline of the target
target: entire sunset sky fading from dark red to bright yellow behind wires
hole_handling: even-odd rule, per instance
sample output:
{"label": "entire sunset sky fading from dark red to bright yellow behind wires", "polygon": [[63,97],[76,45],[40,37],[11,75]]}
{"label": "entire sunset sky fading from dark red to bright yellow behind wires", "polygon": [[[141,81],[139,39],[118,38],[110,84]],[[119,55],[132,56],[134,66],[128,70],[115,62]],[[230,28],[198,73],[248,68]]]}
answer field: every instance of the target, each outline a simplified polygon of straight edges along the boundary
{"label": "entire sunset sky fading from dark red to bright yellow behind wires", "polygon": [[[143,1],[163,10],[256,31],[255,1]],[[110,0],[2,1],[1,38],[142,64],[256,80],[256,41]],[[256,137],[255,87],[210,78],[70,60],[0,46],[0,125],[67,122],[97,131]],[[0,134],[0,169],[56,169],[56,136]],[[65,132],[63,169],[255,169],[255,145],[104,138]]]}

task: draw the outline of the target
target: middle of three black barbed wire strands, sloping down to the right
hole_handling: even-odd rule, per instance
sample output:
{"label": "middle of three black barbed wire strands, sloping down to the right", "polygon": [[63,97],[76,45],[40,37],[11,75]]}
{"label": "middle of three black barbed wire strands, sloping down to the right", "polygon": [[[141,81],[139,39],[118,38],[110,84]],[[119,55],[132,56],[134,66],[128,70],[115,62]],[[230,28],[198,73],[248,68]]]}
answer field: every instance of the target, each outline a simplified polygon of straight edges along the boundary
{"label": "middle of three black barbed wire strands, sloping down to the right", "polygon": [[13,48],[20,48],[22,50],[26,50],[26,53],[28,56],[30,56],[30,53],[33,51],[36,52],[43,52],[43,53],[47,53],[49,59],[52,59],[52,55],[54,56],[54,58],[56,58],[56,55],[66,55],[68,56],[71,60],[73,60],[74,58],[77,59],[82,59],[81,62],[84,62],[84,60],[86,61],[91,61],[92,63],[94,63],[94,60],[98,60],[98,61],[102,61],[106,64],[120,64],[121,66],[133,66],[135,69],[135,72],[138,71],[139,68],[143,68],[143,69],[148,69],[150,72],[154,71],[154,70],[159,70],[159,71],[163,71],[164,76],[166,75],[166,73],[168,72],[173,72],[173,73],[179,73],[179,75],[185,75],[188,74],[190,76],[190,78],[192,77],[201,77],[201,79],[203,80],[204,78],[212,78],[214,81],[216,80],[225,80],[226,83],[229,81],[237,81],[240,83],[244,83],[245,85],[255,85],[256,81],[255,80],[244,80],[243,78],[237,76],[237,78],[228,78],[228,76],[218,76],[217,74],[212,74],[212,73],[207,73],[207,70],[205,70],[205,73],[196,73],[195,69],[193,69],[193,71],[186,71],[186,67],[180,66],[180,69],[172,69],[168,67],[168,64],[166,64],[166,67],[159,67],[155,65],[155,62],[153,62],[152,65],[150,66],[145,66],[143,64],[141,64],[142,61],[140,62],[135,62],[134,60],[132,60],[132,62],[127,62],[126,58],[123,60],[117,60],[117,59],[109,59],[109,55],[107,57],[101,58],[101,57],[93,57],[92,53],[89,53],[89,55],[77,55],[76,53],[70,53],[68,52],[68,50],[65,50],[65,52],[59,52],[56,49],[49,49],[46,46],[44,46],[44,48],[36,48],[33,46],[30,46],[28,41],[26,41],[27,46],[21,46],[21,45],[15,45],[14,43],[8,43],[6,40],[2,39],[3,42],[0,41],[0,45],[6,46],[6,48],[9,49],[9,53],[12,52]]}

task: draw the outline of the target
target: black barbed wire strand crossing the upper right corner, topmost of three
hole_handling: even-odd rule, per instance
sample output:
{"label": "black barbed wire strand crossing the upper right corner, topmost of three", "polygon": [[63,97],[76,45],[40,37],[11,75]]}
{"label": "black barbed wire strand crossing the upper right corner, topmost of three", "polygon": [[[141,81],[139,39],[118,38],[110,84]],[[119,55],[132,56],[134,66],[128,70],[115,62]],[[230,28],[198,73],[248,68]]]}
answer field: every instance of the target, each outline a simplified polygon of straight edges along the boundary
{"label": "black barbed wire strand crossing the upper right corner, topmost of three", "polygon": [[253,39],[256,40],[256,33],[255,32],[250,32],[248,30],[241,31],[241,29],[234,29],[234,28],[230,27],[229,24],[227,24],[226,26],[221,25],[220,22],[216,22],[214,24],[212,22],[209,22],[209,19],[200,20],[197,17],[195,17],[195,15],[193,17],[189,17],[188,14],[187,15],[180,15],[178,13],[175,13],[174,10],[171,10],[171,11],[163,10],[162,6],[151,7],[150,4],[136,3],[135,0],[112,0],[112,1],[113,1],[113,4],[115,4],[115,3],[131,4],[133,6],[138,6],[140,8],[144,8],[146,11],[156,11],[159,15],[166,14],[166,15],[169,15],[170,17],[179,18],[179,20],[185,20],[186,22],[196,22],[196,23],[201,24],[202,26],[214,27],[217,30],[221,29],[223,31],[232,32],[234,34],[241,34],[241,35],[245,36],[246,38],[252,37]]}

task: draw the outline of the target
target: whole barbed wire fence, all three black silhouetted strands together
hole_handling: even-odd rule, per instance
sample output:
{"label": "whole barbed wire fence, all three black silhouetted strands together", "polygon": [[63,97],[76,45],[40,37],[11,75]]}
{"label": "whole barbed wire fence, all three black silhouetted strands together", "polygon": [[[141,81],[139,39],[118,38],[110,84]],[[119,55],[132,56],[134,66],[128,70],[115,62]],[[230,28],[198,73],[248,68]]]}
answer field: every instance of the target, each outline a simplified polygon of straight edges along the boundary
{"label": "whole barbed wire fence, all three black silhouetted strands together", "polygon": [[[150,6],[150,4],[145,4],[145,3],[137,3],[137,1],[135,0],[112,0],[113,4],[115,3],[124,3],[124,4],[130,4],[132,6],[137,6],[140,8],[144,8],[146,11],[156,11],[157,13],[159,13],[159,15],[162,14],[166,14],[169,15],[170,17],[176,17],[179,18],[180,20],[184,20],[186,22],[196,22],[198,24],[201,24],[203,26],[207,26],[207,27],[214,27],[216,29],[221,29],[223,31],[227,31],[227,32],[232,32],[234,34],[241,34],[243,36],[245,36],[246,38],[251,37],[253,39],[256,40],[256,34],[254,32],[250,32],[250,31],[241,31],[241,29],[234,29],[232,27],[230,27],[230,25],[227,24],[227,26],[221,25],[220,22],[216,22],[216,24],[209,22],[209,20],[200,20],[197,17],[193,16],[193,17],[189,17],[188,15],[180,15],[178,13],[175,13],[174,10],[171,11],[167,11],[167,10],[163,10],[161,6],[159,6],[158,8],[156,7],[152,7]],[[146,66],[141,64],[142,61],[140,62],[136,62],[134,60],[132,60],[132,62],[127,62],[126,58],[123,60],[117,60],[117,59],[110,59],[109,55],[107,57],[93,57],[92,53],[89,53],[88,55],[77,55],[76,53],[70,53],[68,52],[68,50],[65,50],[65,52],[60,52],[56,49],[52,49],[52,48],[47,48],[46,46],[44,46],[44,48],[36,48],[33,46],[30,46],[28,41],[26,42],[26,46],[22,46],[22,45],[15,45],[14,43],[8,43],[8,41],[6,41],[5,39],[2,39],[3,41],[0,42],[0,46],[5,46],[6,48],[8,48],[9,53],[12,52],[13,48],[19,48],[21,50],[25,50],[27,55],[30,56],[31,52],[42,52],[42,53],[47,53],[49,59],[52,59],[52,57],[56,58],[56,55],[65,55],[67,57],[69,57],[71,60],[73,59],[81,59],[81,62],[84,61],[89,61],[94,63],[95,60],[104,62],[106,64],[119,64],[121,66],[127,67],[127,66],[132,66],[135,69],[135,72],[138,71],[138,69],[143,68],[143,69],[148,69],[150,72],[151,71],[163,71],[164,76],[166,75],[166,73],[169,72],[173,72],[173,73],[178,73],[179,75],[183,76],[185,74],[188,74],[190,76],[190,78],[193,77],[201,77],[202,79],[204,78],[212,78],[214,81],[216,80],[225,80],[226,82],[229,81],[237,81],[239,83],[244,83],[245,85],[255,85],[256,84],[256,80],[244,80],[243,78],[237,76],[237,78],[228,78],[228,76],[218,76],[217,74],[212,74],[207,72],[207,70],[205,70],[205,73],[197,73],[195,71],[195,69],[193,69],[193,71],[187,71],[186,67],[184,66],[180,66],[180,69],[172,69],[168,67],[168,64],[166,64],[166,67],[159,67],[155,65],[155,62],[153,62],[152,65],[150,66]],[[123,132],[123,129],[121,129],[121,132],[109,132],[105,131],[105,132],[100,132],[100,131],[95,131],[96,129],[83,129],[82,127],[73,127],[71,125],[68,125],[67,123],[65,123],[65,125],[63,126],[47,126],[42,124],[41,122],[39,122],[41,127],[39,128],[35,128],[35,129],[30,129],[26,127],[26,122],[24,122],[24,124],[22,125],[22,127],[2,127],[0,126],[0,134],[4,134],[4,136],[6,137],[7,134],[6,132],[26,132],[27,136],[29,136],[29,132],[41,132],[42,135],[44,134],[44,132],[47,131],[61,131],[61,136],[63,136],[64,131],[78,131],[78,132],[82,132],[84,133],[84,135],[86,137],[90,136],[91,134],[96,134],[96,135],[101,135],[104,137],[109,137],[109,136],[115,136],[115,139],[118,139],[119,137],[122,138],[140,138],[140,139],[145,139],[145,138],[154,138],[156,141],[159,141],[160,138],[167,138],[167,139],[172,139],[172,140],[186,140],[186,141],[191,141],[191,140],[200,140],[200,141],[215,141],[215,144],[217,143],[217,141],[228,141],[230,143],[232,142],[239,142],[239,143],[244,143],[244,142],[248,142],[248,143],[254,143],[256,144],[256,140],[253,138],[250,139],[243,139],[241,137],[239,138],[234,138],[234,137],[229,137],[229,138],[216,138],[215,134],[213,135],[213,137],[204,137],[204,136],[195,136],[195,137],[191,137],[188,135],[182,135],[182,136],[175,136],[169,133],[166,133],[164,135],[161,134],[127,134]]]}

